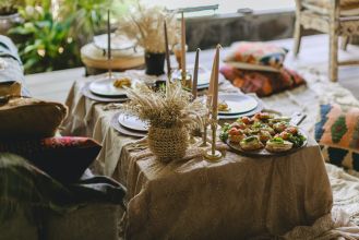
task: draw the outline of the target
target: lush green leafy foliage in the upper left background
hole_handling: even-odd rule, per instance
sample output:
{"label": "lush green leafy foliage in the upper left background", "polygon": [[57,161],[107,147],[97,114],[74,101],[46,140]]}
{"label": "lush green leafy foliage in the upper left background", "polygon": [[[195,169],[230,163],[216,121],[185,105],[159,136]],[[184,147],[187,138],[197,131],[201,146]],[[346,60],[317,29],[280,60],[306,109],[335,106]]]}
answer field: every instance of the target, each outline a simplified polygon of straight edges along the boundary
{"label": "lush green leafy foliage in the upper left background", "polygon": [[24,23],[10,34],[21,39],[25,73],[81,65],[80,48],[105,28],[107,9],[112,7],[118,14],[127,8],[125,0],[62,0],[58,5],[51,0],[17,1],[25,1],[26,7],[20,8]]}

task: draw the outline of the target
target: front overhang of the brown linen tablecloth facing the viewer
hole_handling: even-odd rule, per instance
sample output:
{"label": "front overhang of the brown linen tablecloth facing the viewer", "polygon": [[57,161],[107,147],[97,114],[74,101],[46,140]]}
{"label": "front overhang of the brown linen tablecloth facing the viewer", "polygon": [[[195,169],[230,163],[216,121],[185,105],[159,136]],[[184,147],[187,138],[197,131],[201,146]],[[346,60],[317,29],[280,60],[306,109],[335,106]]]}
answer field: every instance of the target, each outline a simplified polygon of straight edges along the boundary
{"label": "front overhang of the brown linen tablecloth facing the viewer", "polygon": [[248,158],[228,152],[164,165],[123,153],[129,239],[247,239],[284,235],[331,213],[332,191],[319,146],[290,156]]}

